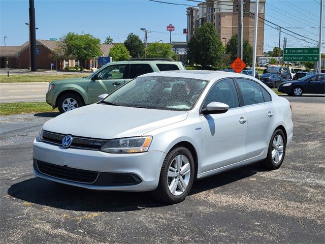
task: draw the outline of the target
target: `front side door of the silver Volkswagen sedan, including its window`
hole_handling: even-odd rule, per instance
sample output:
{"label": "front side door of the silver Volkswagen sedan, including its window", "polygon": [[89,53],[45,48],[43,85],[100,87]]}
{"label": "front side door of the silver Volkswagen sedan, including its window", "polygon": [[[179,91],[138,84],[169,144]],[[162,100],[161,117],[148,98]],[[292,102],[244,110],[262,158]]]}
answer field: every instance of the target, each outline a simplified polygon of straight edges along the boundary
{"label": "front side door of the silver Volkswagen sedan, including its window", "polygon": [[245,158],[246,112],[240,107],[237,88],[232,78],[217,81],[211,87],[203,108],[211,102],[228,104],[230,109],[222,114],[200,115],[204,172],[240,162]]}

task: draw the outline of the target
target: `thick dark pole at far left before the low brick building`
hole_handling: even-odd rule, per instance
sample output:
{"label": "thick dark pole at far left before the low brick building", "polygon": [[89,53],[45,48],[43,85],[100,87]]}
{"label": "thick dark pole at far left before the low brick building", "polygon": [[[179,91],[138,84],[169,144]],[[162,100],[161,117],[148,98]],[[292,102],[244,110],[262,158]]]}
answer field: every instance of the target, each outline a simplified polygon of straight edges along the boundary
{"label": "thick dark pole at far left before the low brick building", "polygon": [[37,71],[36,63],[36,29],[34,0],[29,0],[29,33],[30,33],[30,70]]}

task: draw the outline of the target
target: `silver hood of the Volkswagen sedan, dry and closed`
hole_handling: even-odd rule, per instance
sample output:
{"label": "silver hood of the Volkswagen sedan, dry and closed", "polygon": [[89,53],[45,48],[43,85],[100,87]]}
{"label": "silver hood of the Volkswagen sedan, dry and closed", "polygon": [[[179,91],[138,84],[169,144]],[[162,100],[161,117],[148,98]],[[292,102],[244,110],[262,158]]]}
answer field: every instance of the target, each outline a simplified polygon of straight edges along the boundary
{"label": "silver hood of the Volkswagen sedan, dry and closed", "polygon": [[141,136],[186,119],[186,111],[92,104],[47,121],[46,131],[99,139]]}

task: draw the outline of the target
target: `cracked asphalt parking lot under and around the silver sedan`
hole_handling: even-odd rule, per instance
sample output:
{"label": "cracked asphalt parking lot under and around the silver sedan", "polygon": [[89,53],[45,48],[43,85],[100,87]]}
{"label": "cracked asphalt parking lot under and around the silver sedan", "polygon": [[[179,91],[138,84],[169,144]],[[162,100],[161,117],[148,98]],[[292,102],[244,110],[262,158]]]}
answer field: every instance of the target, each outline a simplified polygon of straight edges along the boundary
{"label": "cracked asphalt parking lot under and around the silver sedan", "polygon": [[196,181],[175,205],[35,178],[32,140],[57,113],[3,116],[0,242],[324,243],[325,98],[287,99],[294,139],[280,169],[257,163]]}

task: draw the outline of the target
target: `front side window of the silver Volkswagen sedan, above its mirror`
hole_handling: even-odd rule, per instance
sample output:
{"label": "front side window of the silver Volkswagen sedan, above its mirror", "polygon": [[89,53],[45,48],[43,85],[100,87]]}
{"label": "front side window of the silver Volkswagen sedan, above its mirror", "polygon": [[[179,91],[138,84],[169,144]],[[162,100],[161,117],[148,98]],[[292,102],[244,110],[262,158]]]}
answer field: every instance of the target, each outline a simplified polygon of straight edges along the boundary
{"label": "front side window of the silver Volkswagen sedan, above its mirror", "polygon": [[233,79],[225,79],[215,83],[205,100],[205,104],[220,102],[229,105],[229,108],[239,107],[236,86]]}

